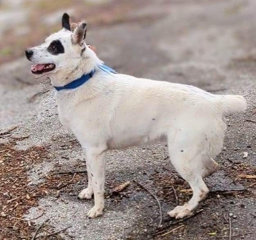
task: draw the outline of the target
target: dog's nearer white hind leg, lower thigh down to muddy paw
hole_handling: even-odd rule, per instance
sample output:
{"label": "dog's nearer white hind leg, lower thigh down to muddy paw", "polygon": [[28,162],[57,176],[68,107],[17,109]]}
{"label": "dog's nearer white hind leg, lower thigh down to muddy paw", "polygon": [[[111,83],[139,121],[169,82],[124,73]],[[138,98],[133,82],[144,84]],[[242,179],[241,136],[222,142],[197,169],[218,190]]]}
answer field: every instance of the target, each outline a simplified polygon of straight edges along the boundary
{"label": "dog's nearer white hind leg, lower thigh down to muddy paw", "polygon": [[[183,218],[190,215],[200,201],[202,201],[209,192],[203,180],[204,175],[204,158],[208,156],[204,150],[199,149],[199,145],[193,143],[196,147],[185,147],[174,149],[172,146],[170,157],[172,164],[183,179],[188,181],[193,190],[193,196],[188,203],[183,206],[177,206],[168,212],[171,217]],[[186,144],[185,144],[186,145]],[[177,146],[176,146],[177,147]]]}

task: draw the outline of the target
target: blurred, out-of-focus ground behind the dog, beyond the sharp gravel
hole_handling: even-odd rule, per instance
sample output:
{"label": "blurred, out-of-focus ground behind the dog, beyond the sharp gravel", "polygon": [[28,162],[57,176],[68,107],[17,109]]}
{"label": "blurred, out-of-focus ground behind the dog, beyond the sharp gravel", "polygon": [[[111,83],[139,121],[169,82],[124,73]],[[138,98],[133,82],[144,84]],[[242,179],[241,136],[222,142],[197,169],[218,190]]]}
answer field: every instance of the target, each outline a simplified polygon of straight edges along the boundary
{"label": "blurred, out-of-focus ground behind the dog, beyond the sharp gravel", "polygon": [[86,41],[119,72],[216,91],[254,74],[255,10],[254,0],[1,0],[0,127],[34,113],[24,51],[58,31],[63,12],[87,21]]}

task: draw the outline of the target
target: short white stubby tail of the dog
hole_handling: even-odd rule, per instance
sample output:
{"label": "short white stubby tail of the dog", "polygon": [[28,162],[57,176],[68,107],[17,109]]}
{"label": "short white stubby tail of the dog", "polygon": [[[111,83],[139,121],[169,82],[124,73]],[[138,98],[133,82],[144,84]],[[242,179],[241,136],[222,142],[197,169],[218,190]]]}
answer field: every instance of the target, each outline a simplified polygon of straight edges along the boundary
{"label": "short white stubby tail of the dog", "polygon": [[225,116],[246,110],[245,98],[240,95],[222,95],[220,101]]}

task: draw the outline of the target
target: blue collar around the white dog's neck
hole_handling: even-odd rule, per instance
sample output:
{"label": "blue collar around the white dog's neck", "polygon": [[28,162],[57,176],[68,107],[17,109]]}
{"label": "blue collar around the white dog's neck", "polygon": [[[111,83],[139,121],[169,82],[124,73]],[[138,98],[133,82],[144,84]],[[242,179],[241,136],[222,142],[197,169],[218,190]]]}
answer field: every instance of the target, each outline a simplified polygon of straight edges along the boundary
{"label": "blue collar around the white dog's neck", "polygon": [[[112,68],[109,68],[108,66],[106,66],[104,63],[101,64],[100,66],[98,66],[98,68],[100,68],[102,71],[107,72],[107,73],[117,73],[115,70],[113,70]],[[95,73],[95,69],[93,69],[91,72],[86,73],[84,75],[82,75],[82,77],[73,80],[72,82],[61,86],[61,87],[56,87],[54,86],[54,88],[57,91],[61,91],[63,89],[74,89],[74,88],[78,88],[79,86],[81,86],[82,84],[84,84],[85,82],[87,82],[91,77],[93,77]]]}

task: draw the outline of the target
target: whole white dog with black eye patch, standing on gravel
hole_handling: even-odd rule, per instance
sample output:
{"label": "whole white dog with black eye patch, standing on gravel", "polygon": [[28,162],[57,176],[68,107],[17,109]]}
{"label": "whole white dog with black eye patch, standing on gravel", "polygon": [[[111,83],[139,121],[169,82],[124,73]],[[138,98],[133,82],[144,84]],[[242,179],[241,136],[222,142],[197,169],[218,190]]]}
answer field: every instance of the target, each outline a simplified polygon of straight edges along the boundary
{"label": "whole white dog with black eye patch, standing on gravel", "polygon": [[190,184],[193,197],[168,212],[182,218],[208,193],[203,181],[217,169],[226,129],[225,116],[245,111],[238,95],[213,95],[199,88],[118,74],[85,43],[86,24],[63,29],[26,51],[32,72],[50,77],[56,89],[60,120],[71,129],[86,155],[88,186],[79,194],[104,209],[104,168],[108,149],[167,142],[177,172]]}

